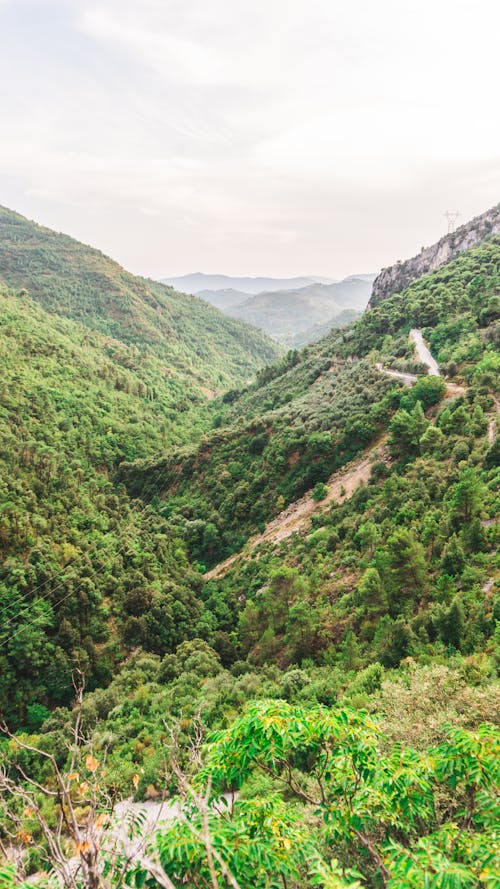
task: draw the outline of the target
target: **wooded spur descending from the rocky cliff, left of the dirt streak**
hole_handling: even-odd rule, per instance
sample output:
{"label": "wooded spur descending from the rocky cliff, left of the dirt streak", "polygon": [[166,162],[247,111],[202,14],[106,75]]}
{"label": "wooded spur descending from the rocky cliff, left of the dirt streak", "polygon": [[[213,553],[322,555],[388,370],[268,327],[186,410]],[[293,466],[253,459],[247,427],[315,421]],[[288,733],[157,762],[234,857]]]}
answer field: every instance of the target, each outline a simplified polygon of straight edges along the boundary
{"label": "wooded spur descending from the rocky cliff, left of the dirt streak", "polygon": [[[424,327],[445,369],[460,367],[467,380],[482,355],[493,353],[499,264],[495,238],[380,303],[347,332],[290,352],[256,384],[225,396],[222,428],[199,448],[124,467],[130,490],[150,492],[161,470],[167,512],[185,521],[193,556],[213,564],[238,549],[380,435],[404,393],[374,365],[418,370],[410,328]],[[437,396],[421,387],[420,397],[427,408]]]}

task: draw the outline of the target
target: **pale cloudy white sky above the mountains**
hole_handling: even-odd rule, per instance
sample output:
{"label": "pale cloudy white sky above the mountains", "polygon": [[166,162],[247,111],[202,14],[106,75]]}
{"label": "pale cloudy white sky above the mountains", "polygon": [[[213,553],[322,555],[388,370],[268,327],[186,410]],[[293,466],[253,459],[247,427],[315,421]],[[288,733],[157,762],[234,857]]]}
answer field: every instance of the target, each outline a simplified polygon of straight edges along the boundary
{"label": "pale cloudy white sky above the mountains", "polygon": [[0,0],[0,204],[162,277],[376,272],[500,200],[497,0]]}

